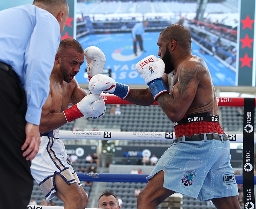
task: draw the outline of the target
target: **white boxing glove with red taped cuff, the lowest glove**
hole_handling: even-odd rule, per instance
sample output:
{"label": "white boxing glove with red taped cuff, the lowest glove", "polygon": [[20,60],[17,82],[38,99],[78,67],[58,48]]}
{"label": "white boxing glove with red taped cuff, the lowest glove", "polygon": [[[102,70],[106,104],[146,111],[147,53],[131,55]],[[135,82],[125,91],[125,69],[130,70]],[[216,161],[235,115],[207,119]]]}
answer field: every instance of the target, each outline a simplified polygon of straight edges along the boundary
{"label": "white boxing glove with red taped cuff, the lowest glove", "polygon": [[98,94],[89,94],[81,102],[63,111],[67,122],[83,116],[87,118],[101,118],[106,112],[104,99]]}

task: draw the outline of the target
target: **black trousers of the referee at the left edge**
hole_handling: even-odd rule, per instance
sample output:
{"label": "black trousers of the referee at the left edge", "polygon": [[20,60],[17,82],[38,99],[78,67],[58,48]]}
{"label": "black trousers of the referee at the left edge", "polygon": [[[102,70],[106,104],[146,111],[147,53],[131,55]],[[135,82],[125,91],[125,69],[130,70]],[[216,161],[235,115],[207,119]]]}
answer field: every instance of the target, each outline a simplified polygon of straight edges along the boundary
{"label": "black trousers of the referee at the left edge", "polygon": [[25,209],[33,190],[31,162],[22,157],[27,102],[17,74],[0,63],[0,207]]}

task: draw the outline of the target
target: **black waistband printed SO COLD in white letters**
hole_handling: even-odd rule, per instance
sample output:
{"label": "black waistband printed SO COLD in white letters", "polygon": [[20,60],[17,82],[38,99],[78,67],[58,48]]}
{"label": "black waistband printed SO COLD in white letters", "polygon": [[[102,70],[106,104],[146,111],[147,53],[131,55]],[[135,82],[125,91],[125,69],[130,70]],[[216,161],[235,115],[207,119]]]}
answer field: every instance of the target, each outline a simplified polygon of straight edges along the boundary
{"label": "black waistband printed SO COLD in white letters", "polygon": [[182,118],[181,120],[174,122],[173,126],[178,126],[185,123],[192,123],[192,122],[218,122],[219,123],[219,115],[211,115],[210,112],[203,112],[203,113],[196,113],[191,115],[186,115],[186,118]]}

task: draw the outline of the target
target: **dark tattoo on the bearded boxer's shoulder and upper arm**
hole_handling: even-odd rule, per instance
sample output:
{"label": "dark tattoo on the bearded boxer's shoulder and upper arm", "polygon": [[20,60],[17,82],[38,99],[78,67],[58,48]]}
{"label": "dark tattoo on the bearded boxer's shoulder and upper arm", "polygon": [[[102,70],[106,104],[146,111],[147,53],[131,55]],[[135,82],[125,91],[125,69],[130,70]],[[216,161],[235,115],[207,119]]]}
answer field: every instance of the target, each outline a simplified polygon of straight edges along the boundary
{"label": "dark tattoo on the bearded boxer's shoulder and upper arm", "polygon": [[180,67],[179,70],[180,77],[177,83],[177,89],[179,91],[181,98],[184,95],[185,91],[191,88],[190,84],[193,81],[193,79],[195,79],[195,81],[193,81],[195,83],[195,86],[198,85],[199,81],[201,80],[204,74],[204,67],[200,63],[195,63],[195,65],[190,69],[182,66]]}

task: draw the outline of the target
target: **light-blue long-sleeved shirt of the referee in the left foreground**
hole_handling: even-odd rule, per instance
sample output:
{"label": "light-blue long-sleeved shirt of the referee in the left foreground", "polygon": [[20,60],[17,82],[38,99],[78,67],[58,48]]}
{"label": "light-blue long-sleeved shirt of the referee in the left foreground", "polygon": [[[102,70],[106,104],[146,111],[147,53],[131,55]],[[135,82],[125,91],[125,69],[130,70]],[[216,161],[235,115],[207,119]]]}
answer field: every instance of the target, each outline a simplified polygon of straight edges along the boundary
{"label": "light-blue long-sleeved shirt of the referee in the left foreground", "polygon": [[2,10],[0,19],[0,61],[12,66],[25,89],[26,121],[39,125],[60,44],[60,24],[34,5]]}

